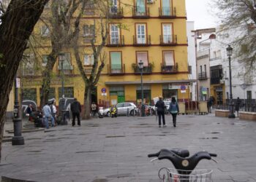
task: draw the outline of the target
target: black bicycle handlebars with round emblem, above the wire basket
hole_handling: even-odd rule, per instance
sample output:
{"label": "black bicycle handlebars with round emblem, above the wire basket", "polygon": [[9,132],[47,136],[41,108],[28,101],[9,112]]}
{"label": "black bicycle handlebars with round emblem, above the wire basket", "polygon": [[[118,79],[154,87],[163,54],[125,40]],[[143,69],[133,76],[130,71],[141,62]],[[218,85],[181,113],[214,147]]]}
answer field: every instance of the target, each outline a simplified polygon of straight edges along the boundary
{"label": "black bicycle handlebars with round emblem, above the wire basket", "polygon": [[[184,153],[184,151],[187,151],[187,150],[180,150],[180,151],[183,151],[183,153],[182,152],[177,153],[177,149],[174,151],[161,149],[159,152],[155,154],[148,154],[148,157],[157,157],[159,160],[168,159],[170,160],[170,162],[173,163],[174,167],[177,170],[189,170],[191,172],[192,170],[195,169],[195,167],[197,166],[198,162],[200,162],[201,159],[211,159],[211,157],[217,157],[217,154],[211,154],[211,153],[208,153],[207,151],[199,151],[196,154],[189,157],[189,154],[187,155],[186,152]],[[183,154],[183,155],[180,156],[178,154]]]}

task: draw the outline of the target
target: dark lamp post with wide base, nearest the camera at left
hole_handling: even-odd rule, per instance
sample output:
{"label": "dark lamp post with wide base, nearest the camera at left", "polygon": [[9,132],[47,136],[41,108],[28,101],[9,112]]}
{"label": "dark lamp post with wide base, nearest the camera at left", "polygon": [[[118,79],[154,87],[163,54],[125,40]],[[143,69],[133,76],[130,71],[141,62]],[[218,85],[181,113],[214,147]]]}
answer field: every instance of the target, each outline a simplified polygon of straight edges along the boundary
{"label": "dark lamp post with wide base, nearest the camera at left", "polygon": [[22,119],[20,119],[19,101],[18,101],[18,79],[15,80],[15,95],[14,95],[14,108],[13,108],[13,130],[14,136],[12,137],[12,146],[24,145],[24,138],[21,135]]}

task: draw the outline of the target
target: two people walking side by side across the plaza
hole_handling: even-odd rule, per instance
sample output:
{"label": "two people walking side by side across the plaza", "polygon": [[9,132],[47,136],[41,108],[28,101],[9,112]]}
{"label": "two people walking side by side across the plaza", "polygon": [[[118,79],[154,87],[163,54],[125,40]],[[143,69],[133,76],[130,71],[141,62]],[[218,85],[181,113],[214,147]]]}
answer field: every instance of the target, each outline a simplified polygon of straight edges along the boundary
{"label": "two people walking side by side across the plaza", "polygon": [[[167,125],[165,124],[165,103],[162,100],[162,96],[159,96],[159,100],[156,103],[156,107],[159,127],[161,127],[161,117],[163,124],[162,127],[166,127]],[[168,111],[173,116],[173,127],[176,127],[176,119],[177,114],[179,113],[179,108],[175,97],[172,97]]]}

